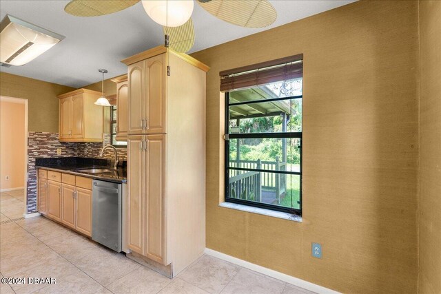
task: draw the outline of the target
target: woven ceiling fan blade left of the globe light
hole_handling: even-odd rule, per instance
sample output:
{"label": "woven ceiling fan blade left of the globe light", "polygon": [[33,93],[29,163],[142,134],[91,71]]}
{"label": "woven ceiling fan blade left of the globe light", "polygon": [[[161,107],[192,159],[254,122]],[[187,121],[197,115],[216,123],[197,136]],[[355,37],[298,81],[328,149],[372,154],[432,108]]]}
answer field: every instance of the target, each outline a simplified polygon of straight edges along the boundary
{"label": "woven ceiling fan blade left of the globe light", "polygon": [[99,17],[129,8],[139,0],[72,0],[64,11],[75,17]]}

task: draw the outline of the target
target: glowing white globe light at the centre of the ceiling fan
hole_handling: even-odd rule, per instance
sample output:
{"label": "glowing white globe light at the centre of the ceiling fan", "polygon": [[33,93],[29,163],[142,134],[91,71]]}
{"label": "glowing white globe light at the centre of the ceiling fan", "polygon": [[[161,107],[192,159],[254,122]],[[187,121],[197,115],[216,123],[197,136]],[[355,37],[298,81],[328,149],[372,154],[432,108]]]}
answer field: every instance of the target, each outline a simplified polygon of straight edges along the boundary
{"label": "glowing white globe light at the centre of the ceiling fan", "polygon": [[167,27],[183,25],[192,16],[193,0],[143,0],[147,15],[156,23]]}

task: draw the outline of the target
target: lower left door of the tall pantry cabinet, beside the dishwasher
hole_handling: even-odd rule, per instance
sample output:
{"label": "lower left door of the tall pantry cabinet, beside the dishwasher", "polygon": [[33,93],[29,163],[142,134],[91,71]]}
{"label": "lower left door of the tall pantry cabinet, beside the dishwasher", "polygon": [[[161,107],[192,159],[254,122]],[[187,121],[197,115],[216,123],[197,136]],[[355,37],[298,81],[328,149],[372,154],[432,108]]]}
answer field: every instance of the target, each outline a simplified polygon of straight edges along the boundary
{"label": "lower left door of the tall pantry cabinet, beside the dishwasher", "polygon": [[128,236],[127,247],[144,255],[144,191],[143,167],[145,152],[143,138],[145,136],[129,136],[127,140],[127,185],[128,193]]}

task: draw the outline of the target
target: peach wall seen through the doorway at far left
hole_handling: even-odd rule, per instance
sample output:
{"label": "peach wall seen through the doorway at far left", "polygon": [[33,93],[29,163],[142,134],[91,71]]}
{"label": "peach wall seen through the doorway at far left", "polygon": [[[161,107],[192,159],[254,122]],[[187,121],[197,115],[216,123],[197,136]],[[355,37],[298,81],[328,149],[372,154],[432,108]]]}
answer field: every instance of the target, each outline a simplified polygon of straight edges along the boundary
{"label": "peach wall seen through the doorway at far left", "polygon": [[24,103],[0,101],[0,178],[2,190],[25,187]]}

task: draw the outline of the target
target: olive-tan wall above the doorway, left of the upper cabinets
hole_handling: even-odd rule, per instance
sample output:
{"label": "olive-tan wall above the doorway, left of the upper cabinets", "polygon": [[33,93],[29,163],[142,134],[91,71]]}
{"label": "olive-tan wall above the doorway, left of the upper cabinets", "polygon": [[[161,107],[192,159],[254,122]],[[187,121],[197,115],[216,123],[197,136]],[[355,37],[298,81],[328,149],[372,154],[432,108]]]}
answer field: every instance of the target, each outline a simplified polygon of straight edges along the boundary
{"label": "olive-tan wall above the doorway, left of the upper cabinets", "polygon": [[28,131],[58,133],[57,95],[75,88],[0,72],[0,95],[28,99]]}

